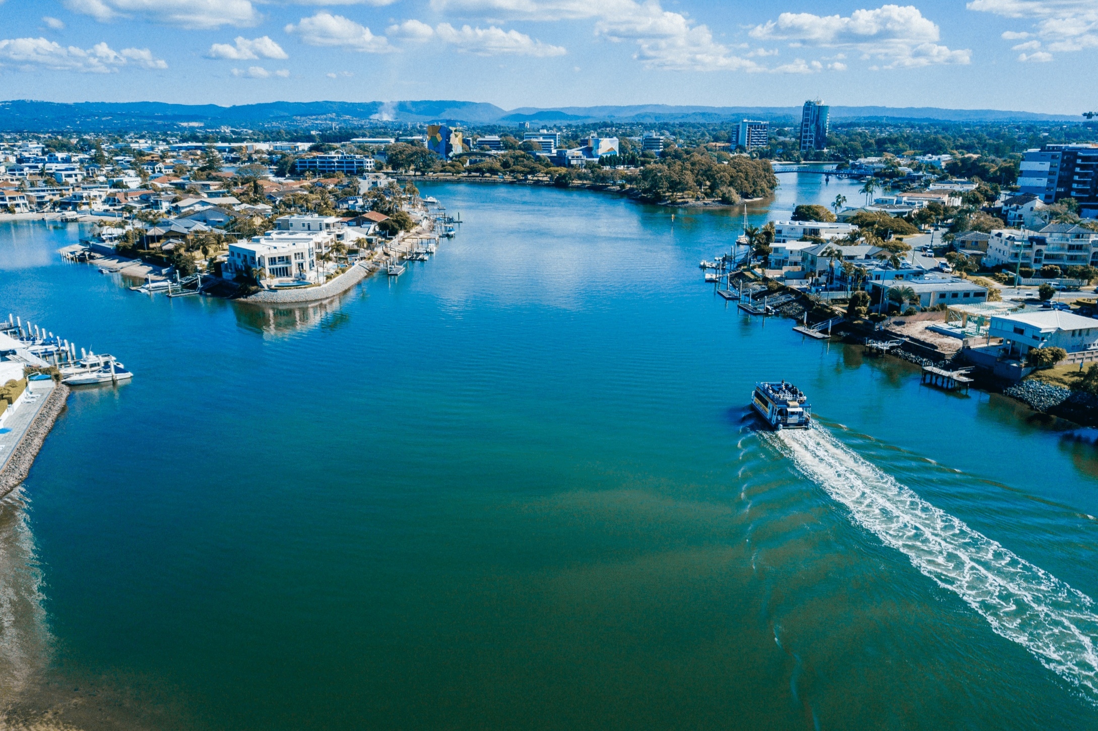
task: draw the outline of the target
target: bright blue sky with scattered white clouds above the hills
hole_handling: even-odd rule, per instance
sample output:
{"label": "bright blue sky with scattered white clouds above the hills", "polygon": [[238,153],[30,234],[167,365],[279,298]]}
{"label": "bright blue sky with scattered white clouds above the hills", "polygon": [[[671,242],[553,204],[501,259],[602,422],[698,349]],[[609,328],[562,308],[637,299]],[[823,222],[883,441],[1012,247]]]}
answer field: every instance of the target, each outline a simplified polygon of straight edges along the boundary
{"label": "bright blue sky with scattered white clouds above the hills", "polygon": [[1098,108],[1098,0],[0,0],[0,97]]}

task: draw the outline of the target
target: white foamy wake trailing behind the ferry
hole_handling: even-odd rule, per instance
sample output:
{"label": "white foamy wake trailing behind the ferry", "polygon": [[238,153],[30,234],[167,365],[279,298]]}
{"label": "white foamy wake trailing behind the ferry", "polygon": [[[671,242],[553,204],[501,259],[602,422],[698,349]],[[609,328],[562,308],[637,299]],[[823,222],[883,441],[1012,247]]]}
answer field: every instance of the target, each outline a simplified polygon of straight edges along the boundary
{"label": "white foamy wake trailing behind the ferry", "polygon": [[826,429],[780,431],[773,441],[854,521],[1098,705],[1098,615],[1090,597],[938,509]]}

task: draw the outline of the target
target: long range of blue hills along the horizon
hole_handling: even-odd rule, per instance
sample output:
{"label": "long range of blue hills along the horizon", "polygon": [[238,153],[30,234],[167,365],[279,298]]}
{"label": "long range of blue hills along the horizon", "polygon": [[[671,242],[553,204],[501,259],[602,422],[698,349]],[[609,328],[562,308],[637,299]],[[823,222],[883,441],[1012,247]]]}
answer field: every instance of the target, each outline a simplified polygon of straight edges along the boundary
{"label": "long range of blue hills along the horizon", "polygon": [[[762,119],[795,123],[799,106],[686,106],[635,104],[628,106],[554,106],[504,110],[469,101],[399,102],[270,102],[217,106],[165,102],[56,102],[0,101],[2,132],[107,132],[180,127],[247,127],[254,130],[318,130],[365,127],[378,122],[444,122],[464,124],[560,124],[583,122],[722,122]],[[1082,122],[1082,116],[1001,110],[955,110],[932,106],[832,106],[838,121],[894,120],[944,122]]]}

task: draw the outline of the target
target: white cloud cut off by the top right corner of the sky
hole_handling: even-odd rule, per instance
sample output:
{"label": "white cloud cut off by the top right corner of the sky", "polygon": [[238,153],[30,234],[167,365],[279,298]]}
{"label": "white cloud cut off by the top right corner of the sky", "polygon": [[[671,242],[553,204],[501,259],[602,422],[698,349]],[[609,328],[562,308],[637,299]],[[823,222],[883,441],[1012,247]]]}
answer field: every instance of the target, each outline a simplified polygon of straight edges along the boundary
{"label": "white cloud cut off by the top right corner of the sky", "polygon": [[[1038,37],[1049,50],[1076,52],[1098,48],[1098,2],[1095,0],[973,0],[968,10],[1034,22],[1033,33],[1007,31],[1002,37],[1016,41]],[[1020,61],[1050,61],[1047,52],[1021,54]]]}

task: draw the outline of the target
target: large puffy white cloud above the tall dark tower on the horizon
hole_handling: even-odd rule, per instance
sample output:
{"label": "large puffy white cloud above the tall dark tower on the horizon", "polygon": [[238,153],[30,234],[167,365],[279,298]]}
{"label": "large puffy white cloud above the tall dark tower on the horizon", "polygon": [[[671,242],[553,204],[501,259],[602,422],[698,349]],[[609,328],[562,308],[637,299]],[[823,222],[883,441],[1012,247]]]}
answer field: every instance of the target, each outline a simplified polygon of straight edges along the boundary
{"label": "large puffy white cloud above the tall dark tower on the horizon", "polygon": [[967,64],[972,56],[971,50],[951,50],[935,43],[938,25],[912,5],[855,10],[849,18],[782,13],[776,21],[753,27],[750,35],[796,46],[849,48],[860,52],[863,59],[888,61],[885,68]]}

